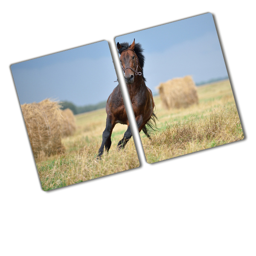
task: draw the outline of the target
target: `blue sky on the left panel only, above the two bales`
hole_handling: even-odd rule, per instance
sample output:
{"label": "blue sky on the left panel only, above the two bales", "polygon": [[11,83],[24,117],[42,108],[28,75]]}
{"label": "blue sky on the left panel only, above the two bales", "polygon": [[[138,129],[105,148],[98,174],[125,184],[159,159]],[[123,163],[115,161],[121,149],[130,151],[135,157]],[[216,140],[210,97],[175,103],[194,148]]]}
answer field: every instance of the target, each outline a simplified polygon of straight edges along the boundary
{"label": "blue sky on the left panel only, above the two bales", "polygon": [[20,104],[46,98],[95,104],[108,99],[117,85],[107,41],[13,64],[11,69]]}

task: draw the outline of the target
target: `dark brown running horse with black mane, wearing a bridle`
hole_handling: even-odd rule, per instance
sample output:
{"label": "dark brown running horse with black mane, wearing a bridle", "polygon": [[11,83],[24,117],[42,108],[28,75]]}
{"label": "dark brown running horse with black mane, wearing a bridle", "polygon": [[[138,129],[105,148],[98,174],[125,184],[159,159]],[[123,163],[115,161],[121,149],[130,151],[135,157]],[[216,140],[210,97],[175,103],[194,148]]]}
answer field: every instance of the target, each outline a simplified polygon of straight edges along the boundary
{"label": "dark brown running horse with black mane, wearing a bridle", "polygon": [[[152,129],[156,127],[156,116],[153,111],[154,100],[152,92],[148,87],[146,87],[146,79],[143,76],[145,60],[145,57],[142,54],[143,49],[140,44],[135,44],[135,39],[131,45],[126,42],[122,44],[117,43],[117,49],[120,54],[120,61],[139,132],[143,130],[146,136],[150,138],[148,127]],[[106,151],[110,149],[111,134],[116,123],[128,125],[127,131],[125,132],[122,140],[119,141],[117,147],[124,147],[132,136],[119,84],[108,97],[106,112],[106,128],[102,134],[102,145],[99,148],[98,157],[103,154],[104,146]]]}

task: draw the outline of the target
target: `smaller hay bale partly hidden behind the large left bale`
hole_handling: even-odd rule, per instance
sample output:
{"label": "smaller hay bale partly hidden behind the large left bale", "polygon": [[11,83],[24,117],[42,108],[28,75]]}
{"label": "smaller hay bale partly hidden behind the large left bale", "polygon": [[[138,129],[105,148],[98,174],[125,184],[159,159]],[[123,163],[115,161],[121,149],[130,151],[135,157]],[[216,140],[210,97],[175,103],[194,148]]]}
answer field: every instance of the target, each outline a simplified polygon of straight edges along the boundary
{"label": "smaller hay bale partly hidden behind the large left bale", "polygon": [[61,114],[63,116],[61,121],[61,137],[67,137],[76,131],[75,116],[69,108],[62,110]]}

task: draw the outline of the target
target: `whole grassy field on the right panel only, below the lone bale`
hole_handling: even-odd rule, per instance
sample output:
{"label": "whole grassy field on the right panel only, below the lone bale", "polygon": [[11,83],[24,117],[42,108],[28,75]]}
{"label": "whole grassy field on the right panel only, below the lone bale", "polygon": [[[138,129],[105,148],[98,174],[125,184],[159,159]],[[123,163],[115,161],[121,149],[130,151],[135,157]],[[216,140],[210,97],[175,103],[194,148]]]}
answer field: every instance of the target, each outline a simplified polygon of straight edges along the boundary
{"label": "whole grassy field on the right panel only, below the lone bale", "polygon": [[229,81],[199,87],[198,93],[198,106],[158,113],[160,133],[152,141],[141,136],[148,163],[244,138]]}

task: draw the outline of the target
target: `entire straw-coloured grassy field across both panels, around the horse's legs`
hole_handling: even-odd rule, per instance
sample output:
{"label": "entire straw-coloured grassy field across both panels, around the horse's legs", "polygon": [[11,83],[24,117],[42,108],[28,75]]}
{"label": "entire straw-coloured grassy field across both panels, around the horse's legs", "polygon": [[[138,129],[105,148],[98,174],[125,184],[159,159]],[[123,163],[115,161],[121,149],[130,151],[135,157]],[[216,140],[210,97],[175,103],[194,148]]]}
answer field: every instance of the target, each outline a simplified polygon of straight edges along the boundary
{"label": "entire straw-coloured grassy field across both panels, around the horse's legs", "polygon": [[[228,80],[198,87],[198,97],[198,105],[173,110],[163,109],[159,96],[154,97],[159,131],[154,132],[151,141],[140,133],[148,163],[243,139]],[[102,160],[96,160],[105,129],[105,109],[75,117],[78,127],[75,134],[62,139],[65,153],[51,157],[41,155],[36,159],[44,190],[140,166],[133,139],[125,149],[116,150],[127,128],[120,124],[113,130],[111,150]]]}

